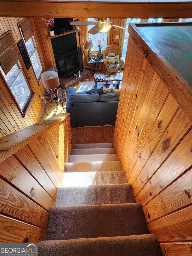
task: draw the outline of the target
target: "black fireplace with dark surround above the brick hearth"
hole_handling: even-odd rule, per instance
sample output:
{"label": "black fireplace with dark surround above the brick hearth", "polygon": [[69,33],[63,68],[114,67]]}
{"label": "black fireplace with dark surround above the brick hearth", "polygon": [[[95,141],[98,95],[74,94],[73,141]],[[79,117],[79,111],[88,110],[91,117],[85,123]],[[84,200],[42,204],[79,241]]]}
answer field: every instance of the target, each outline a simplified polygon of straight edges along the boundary
{"label": "black fireplace with dark surround above the brick hearth", "polygon": [[59,77],[71,77],[83,71],[82,50],[77,46],[76,31],[51,39]]}

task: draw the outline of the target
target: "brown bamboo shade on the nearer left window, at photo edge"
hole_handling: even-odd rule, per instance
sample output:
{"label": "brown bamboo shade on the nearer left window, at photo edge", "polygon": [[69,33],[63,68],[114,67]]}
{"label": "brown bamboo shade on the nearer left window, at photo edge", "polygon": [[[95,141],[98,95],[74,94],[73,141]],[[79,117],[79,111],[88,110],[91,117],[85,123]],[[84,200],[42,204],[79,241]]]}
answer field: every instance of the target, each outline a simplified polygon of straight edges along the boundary
{"label": "brown bamboo shade on the nearer left window, at photo edge", "polygon": [[11,33],[8,33],[0,39],[0,65],[5,75],[7,75],[18,60],[19,53],[17,51],[13,36]]}

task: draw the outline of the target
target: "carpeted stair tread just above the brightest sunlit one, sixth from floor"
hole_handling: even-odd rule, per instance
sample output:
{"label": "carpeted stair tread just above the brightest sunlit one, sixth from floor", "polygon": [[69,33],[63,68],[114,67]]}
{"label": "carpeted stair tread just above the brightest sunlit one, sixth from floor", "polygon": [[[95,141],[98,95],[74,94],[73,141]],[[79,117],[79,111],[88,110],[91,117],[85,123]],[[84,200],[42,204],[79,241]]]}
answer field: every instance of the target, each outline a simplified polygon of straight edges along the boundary
{"label": "carpeted stair tread just above the brightest sunlit one, sixth from floor", "polygon": [[56,207],[135,203],[131,184],[92,185],[86,187],[60,187],[57,189]]}

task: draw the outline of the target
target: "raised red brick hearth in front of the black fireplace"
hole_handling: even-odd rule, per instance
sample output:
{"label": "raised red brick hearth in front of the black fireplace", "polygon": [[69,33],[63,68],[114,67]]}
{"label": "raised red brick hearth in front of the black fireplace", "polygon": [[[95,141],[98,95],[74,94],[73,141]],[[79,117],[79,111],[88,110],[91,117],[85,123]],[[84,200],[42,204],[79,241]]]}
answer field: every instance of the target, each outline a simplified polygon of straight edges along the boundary
{"label": "raised red brick hearth in front of the black fireplace", "polygon": [[91,72],[88,71],[87,69],[83,69],[83,72],[80,73],[80,77],[59,77],[59,82],[61,88],[65,89],[70,86],[73,86],[74,84],[78,83],[79,81],[84,80],[85,78],[90,77]]}

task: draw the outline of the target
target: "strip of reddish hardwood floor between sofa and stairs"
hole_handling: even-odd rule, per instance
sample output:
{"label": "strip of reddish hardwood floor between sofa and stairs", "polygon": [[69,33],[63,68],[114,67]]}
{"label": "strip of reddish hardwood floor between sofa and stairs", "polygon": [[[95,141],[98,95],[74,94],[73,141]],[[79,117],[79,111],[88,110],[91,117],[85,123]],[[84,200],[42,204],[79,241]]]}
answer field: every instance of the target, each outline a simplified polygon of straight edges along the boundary
{"label": "strip of reddish hardwood floor between sofa and stairs", "polygon": [[73,143],[112,143],[115,126],[72,127]]}

